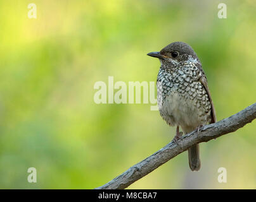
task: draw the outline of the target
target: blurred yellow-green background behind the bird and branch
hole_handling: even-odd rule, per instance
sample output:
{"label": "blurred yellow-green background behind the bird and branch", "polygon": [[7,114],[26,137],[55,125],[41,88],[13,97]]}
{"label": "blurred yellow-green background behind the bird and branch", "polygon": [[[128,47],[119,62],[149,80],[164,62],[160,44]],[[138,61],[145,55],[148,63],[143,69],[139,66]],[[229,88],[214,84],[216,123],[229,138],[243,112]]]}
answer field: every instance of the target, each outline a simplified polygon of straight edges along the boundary
{"label": "blurred yellow-green background behind the bird and branch", "polygon": [[[27,16],[37,5],[37,19]],[[219,19],[218,4],[227,4]],[[95,104],[96,81],[156,81],[174,41],[202,61],[217,119],[256,100],[255,1],[0,1],[0,188],[92,189],[174,136],[151,104]],[[256,122],[184,152],[133,189],[256,188]],[[27,169],[37,169],[37,183]],[[217,181],[219,167],[227,183]]]}

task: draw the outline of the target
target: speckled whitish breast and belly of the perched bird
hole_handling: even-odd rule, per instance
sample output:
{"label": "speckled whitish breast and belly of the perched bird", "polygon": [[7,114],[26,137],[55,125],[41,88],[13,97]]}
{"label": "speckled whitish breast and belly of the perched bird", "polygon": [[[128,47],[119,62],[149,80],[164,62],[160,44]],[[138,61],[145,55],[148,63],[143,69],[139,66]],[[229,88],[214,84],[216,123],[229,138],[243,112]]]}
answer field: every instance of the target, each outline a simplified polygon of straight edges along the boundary
{"label": "speckled whitish breast and belly of the perched bird", "polygon": [[200,76],[191,61],[170,71],[160,68],[158,73],[160,115],[170,126],[181,126],[185,133],[210,120],[210,102]]}

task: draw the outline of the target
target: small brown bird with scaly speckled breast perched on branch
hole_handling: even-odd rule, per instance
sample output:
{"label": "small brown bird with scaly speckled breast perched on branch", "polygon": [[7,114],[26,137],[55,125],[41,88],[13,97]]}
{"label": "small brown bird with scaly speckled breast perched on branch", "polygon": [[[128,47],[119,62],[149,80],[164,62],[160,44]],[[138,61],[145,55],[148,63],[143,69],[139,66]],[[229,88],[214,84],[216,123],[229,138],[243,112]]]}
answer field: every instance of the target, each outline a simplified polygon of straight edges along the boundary
{"label": "small brown bird with scaly speckled breast perched on branch", "polygon": [[[160,52],[148,56],[160,60],[157,75],[157,104],[163,120],[176,126],[174,141],[184,134],[216,122],[216,113],[207,77],[192,47],[185,42],[172,42]],[[189,167],[198,171],[201,167],[199,145],[188,148]]]}

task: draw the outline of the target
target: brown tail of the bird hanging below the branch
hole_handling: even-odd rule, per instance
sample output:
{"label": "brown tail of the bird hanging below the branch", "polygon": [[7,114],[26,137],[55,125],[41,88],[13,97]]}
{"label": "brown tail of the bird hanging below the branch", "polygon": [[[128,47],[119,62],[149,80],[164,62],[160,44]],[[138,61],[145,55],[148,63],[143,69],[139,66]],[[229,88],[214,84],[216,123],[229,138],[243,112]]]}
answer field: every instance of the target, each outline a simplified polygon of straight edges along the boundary
{"label": "brown tail of the bird hanging below the branch", "polygon": [[188,162],[189,162],[189,167],[192,171],[200,170],[201,161],[200,161],[199,145],[193,145],[188,148]]}

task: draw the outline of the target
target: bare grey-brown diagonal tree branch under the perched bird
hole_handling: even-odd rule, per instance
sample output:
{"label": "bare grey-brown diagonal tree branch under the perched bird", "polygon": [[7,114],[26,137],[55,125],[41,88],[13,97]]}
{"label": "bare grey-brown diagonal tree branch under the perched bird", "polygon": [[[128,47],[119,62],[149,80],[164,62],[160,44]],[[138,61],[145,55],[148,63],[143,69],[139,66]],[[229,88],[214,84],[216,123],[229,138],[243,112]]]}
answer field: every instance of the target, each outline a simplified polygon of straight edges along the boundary
{"label": "bare grey-brown diagonal tree branch under the perched bird", "polygon": [[97,187],[96,189],[125,189],[133,182],[138,181],[138,179],[141,179],[145,175],[157,169],[163,163],[166,163],[170,159],[176,157],[179,153],[188,150],[190,146],[219,138],[219,136],[227,133],[232,133],[245,126],[245,124],[252,122],[255,118],[256,103],[246,107],[231,117],[222,119],[214,124],[202,126],[199,134],[197,134],[197,131],[193,131],[182,136],[181,139],[178,140],[179,145],[174,141],[170,142],[162,149],[153,153],[150,157],[145,158],[143,161],[132,166],[118,177],[115,177],[112,181],[104,184],[103,186]]}

